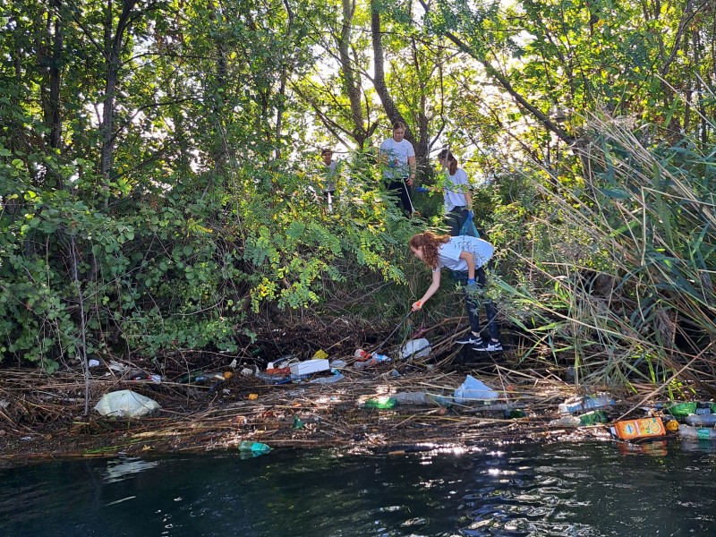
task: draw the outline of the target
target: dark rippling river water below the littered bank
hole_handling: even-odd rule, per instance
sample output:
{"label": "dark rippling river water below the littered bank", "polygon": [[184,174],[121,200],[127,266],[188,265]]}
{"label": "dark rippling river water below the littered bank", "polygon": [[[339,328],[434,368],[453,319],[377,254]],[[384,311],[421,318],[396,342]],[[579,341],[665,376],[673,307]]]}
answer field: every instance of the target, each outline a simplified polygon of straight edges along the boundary
{"label": "dark rippling river water below the littered bank", "polygon": [[716,535],[714,444],[277,449],[0,469],[0,535]]}

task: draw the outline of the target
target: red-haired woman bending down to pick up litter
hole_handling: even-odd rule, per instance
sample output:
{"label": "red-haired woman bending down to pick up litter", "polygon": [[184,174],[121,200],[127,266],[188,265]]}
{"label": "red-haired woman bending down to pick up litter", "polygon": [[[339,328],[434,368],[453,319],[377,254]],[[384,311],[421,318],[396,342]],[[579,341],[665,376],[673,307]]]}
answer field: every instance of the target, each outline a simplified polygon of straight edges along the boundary
{"label": "red-haired woman bending down to pick up litter", "polygon": [[413,311],[422,309],[430,297],[437,293],[440,287],[440,269],[450,268],[456,273],[458,281],[465,285],[465,306],[471,329],[471,333],[467,337],[457,340],[456,343],[473,345],[473,349],[479,352],[501,351],[497,311],[490,300],[484,301],[487,315],[486,328],[488,328],[490,340],[483,341],[480,335],[480,317],[476,297],[477,289],[484,289],[487,286],[487,275],[483,267],[492,258],[495,250],[492,244],[468,235],[451,237],[447,234],[440,235],[426,231],[413,235],[409,245],[413,254],[432,269],[432,283],[422,298],[413,303]]}

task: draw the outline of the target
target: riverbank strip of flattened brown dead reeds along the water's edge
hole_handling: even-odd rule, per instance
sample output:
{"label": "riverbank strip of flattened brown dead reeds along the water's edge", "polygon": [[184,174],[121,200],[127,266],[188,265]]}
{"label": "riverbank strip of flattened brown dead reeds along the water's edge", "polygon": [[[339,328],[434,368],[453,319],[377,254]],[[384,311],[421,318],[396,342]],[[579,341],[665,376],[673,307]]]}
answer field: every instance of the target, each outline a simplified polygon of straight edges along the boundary
{"label": "riverbank strip of flattened brown dead reeds along the water's edge", "polygon": [[[118,377],[106,363],[92,368],[90,413],[84,412],[81,371],[0,373],[0,452],[6,460],[117,453],[177,453],[233,450],[243,440],[278,447],[344,447],[352,452],[402,452],[435,447],[473,447],[532,440],[609,439],[606,425],[571,429],[553,421],[558,405],[584,391],[543,364],[518,366],[509,356],[494,362],[439,363],[410,360],[356,370],[344,379],[270,385],[236,371],[220,383],[200,386]],[[499,392],[492,405],[404,405],[365,407],[369,399],[394,394],[451,396],[467,374]],[[609,418],[642,417],[653,387],[636,387]],[[132,389],[161,405],[158,413],[118,420],[101,417],[94,405],[104,394]],[[592,393],[598,388],[592,387]],[[601,391],[601,389],[599,389]],[[647,399],[647,400],[644,400]],[[505,409],[520,412],[506,413]],[[512,416],[512,417],[510,417]]]}

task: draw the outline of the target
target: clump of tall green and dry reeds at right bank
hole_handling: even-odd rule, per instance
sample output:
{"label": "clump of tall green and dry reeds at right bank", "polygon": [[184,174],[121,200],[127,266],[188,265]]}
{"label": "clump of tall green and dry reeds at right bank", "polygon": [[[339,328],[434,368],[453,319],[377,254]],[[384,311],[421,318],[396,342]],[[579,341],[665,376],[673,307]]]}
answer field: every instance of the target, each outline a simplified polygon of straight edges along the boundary
{"label": "clump of tall green and dry reeds at right bank", "polygon": [[587,124],[582,180],[537,171],[549,209],[533,215],[532,249],[507,245],[520,268],[499,278],[509,316],[578,382],[711,388],[716,148],[647,147],[603,115]]}

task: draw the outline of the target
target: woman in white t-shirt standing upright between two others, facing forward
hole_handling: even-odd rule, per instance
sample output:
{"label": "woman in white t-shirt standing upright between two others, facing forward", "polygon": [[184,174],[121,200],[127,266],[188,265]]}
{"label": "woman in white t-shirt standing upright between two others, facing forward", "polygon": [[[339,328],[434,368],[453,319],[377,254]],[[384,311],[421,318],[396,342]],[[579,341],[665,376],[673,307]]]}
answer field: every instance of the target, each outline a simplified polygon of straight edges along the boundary
{"label": "woman in white t-shirt standing upright between two others, facing forward", "polygon": [[380,162],[388,191],[396,192],[398,196],[398,207],[413,214],[415,209],[410,199],[410,187],[415,179],[415,150],[404,137],[405,125],[400,122],[393,124],[393,137],[380,144]]}

